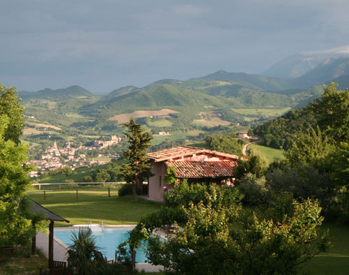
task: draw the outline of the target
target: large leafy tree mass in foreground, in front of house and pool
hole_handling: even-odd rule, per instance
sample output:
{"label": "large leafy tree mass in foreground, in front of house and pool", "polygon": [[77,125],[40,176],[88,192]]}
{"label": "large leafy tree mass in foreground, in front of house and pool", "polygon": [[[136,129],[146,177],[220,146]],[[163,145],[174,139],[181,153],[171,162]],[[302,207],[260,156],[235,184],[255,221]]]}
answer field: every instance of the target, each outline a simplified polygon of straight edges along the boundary
{"label": "large leafy tree mass in foreground, in front of house and pool", "polygon": [[[163,265],[166,274],[246,275],[297,274],[302,262],[329,246],[320,233],[317,201],[291,197],[283,207],[280,195],[268,210],[251,216],[241,198],[236,188],[175,186],[165,198],[168,206],[143,218],[131,232],[130,244],[147,238],[150,262]],[[153,234],[172,224],[175,235],[166,241]]]}

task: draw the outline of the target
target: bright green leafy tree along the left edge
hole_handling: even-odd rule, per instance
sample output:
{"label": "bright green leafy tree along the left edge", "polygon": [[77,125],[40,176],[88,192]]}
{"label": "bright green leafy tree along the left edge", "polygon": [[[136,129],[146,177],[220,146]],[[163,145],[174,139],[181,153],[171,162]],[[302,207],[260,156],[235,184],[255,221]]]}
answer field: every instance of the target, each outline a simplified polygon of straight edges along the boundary
{"label": "bright green leafy tree along the left edge", "polygon": [[16,91],[0,86],[0,246],[29,241],[31,221],[24,201],[30,184],[27,147],[20,143],[23,115]]}

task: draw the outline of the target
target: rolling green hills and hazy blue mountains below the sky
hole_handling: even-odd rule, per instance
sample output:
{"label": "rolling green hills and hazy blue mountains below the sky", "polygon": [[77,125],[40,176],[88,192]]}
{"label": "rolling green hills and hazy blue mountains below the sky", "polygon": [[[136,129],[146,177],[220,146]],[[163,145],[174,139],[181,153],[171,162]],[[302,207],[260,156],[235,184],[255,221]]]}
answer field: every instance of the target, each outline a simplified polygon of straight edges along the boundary
{"label": "rolling green hills and hazy blue mountains below the sky", "polygon": [[[184,81],[165,79],[141,88],[121,87],[107,95],[79,86],[20,91],[19,95],[27,118],[69,131],[89,129],[103,134],[119,125],[119,115],[134,112],[153,131],[178,131],[270,119],[304,107],[323,93],[322,84],[331,81],[338,82],[339,89],[349,87],[349,54],[343,49],[287,57],[260,75],[218,70]],[[157,113],[164,109],[170,112]],[[147,110],[151,115],[146,112],[142,117]]]}

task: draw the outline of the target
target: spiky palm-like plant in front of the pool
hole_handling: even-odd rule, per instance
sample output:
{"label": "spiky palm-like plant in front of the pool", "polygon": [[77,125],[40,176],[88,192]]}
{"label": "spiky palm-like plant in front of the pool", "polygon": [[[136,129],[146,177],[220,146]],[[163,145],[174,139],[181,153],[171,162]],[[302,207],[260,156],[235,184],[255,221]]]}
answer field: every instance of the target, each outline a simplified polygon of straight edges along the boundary
{"label": "spiky palm-like plant in front of the pool", "polygon": [[91,274],[96,271],[99,263],[105,259],[96,246],[96,238],[90,230],[73,232],[71,237],[73,244],[68,249],[68,265],[75,267],[79,274]]}

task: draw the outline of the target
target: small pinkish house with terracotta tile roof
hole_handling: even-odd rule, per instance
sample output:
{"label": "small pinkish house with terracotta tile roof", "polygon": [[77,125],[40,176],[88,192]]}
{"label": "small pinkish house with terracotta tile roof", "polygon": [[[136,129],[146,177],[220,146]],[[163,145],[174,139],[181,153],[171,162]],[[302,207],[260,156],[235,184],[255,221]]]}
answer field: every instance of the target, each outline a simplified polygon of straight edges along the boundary
{"label": "small pinkish house with terracotta tile roof", "polygon": [[174,176],[179,180],[188,179],[189,184],[221,184],[225,181],[231,182],[234,177],[232,168],[237,165],[239,157],[208,149],[179,146],[151,152],[148,158],[153,162],[153,176],[148,181],[149,199],[163,201],[163,193],[174,186],[164,182],[168,167],[174,167]]}

